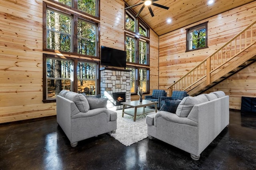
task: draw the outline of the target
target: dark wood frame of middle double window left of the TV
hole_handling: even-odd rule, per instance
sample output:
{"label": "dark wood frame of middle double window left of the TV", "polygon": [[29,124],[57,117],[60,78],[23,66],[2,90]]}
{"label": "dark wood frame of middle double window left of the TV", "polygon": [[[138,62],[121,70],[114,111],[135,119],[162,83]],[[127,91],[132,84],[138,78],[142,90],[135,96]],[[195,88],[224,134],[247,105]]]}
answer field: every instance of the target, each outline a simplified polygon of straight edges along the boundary
{"label": "dark wood frame of middle double window left of the TV", "polygon": [[[64,5],[64,4],[63,4]],[[67,51],[56,51],[54,49],[48,49],[47,48],[47,25],[46,25],[46,11],[47,10],[53,10],[56,12],[60,12],[62,14],[71,16],[73,19],[72,22],[72,36],[71,36],[71,52],[67,52]],[[96,25],[96,51],[95,51],[95,56],[92,55],[84,55],[84,54],[80,54],[78,53],[78,20],[82,20],[84,22],[87,23],[91,23],[92,25]],[[43,2],[43,51],[49,51],[49,52],[53,52],[53,53],[62,53],[62,54],[68,54],[68,55],[79,55],[82,57],[90,57],[90,58],[96,58],[96,59],[100,59],[100,41],[99,41],[99,35],[100,35],[100,23],[98,21],[92,21],[89,18],[86,18],[85,16],[81,16],[79,14],[76,14],[74,12],[68,12],[67,10],[64,10],[60,7],[54,6],[53,4],[49,4],[47,2]]]}

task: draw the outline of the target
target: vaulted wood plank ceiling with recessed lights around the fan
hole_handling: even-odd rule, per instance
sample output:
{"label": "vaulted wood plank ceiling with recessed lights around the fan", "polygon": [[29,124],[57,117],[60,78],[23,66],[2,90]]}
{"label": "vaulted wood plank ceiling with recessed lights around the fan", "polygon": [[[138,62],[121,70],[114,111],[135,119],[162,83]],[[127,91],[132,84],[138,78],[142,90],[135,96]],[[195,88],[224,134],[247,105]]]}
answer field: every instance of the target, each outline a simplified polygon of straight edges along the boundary
{"label": "vaulted wood plank ceiling with recessed lights around the fan", "polygon": [[[124,0],[129,6],[144,2],[142,0]],[[151,16],[147,7],[140,13],[144,20],[158,35],[174,31],[186,25],[204,20],[222,12],[253,2],[255,0],[214,0],[209,5],[209,0],[157,0],[156,4],[170,7],[168,10],[152,6],[154,17]],[[133,7],[138,13],[143,4]],[[171,19],[171,23],[167,20]]]}

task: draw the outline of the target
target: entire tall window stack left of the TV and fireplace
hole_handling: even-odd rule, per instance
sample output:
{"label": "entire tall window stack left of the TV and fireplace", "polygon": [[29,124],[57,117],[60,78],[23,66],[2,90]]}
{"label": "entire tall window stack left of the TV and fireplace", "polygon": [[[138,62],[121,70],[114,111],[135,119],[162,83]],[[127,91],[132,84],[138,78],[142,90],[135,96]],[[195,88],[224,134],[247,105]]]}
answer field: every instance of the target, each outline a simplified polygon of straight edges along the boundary
{"label": "entire tall window stack left of the TV and fireplace", "polygon": [[43,1],[43,102],[55,102],[61,90],[97,94],[99,22],[92,18],[99,0],[49,1]]}

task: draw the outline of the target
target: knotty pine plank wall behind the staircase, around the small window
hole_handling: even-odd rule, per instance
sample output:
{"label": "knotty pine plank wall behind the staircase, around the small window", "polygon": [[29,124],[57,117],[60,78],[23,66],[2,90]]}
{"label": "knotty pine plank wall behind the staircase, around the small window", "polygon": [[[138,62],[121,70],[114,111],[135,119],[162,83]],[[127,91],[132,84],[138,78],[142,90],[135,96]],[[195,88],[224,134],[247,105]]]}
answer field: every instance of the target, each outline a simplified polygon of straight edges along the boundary
{"label": "knotty pine plank wall behind the staircase, around the small window", "polygon": [[[250,25],[256,20],[256,2],[246,4],[239,8],[218,14],[202,20],[200,22],[188,25],[176,31],[172,31],[159,37],[159,88],[167,90],[167,88],[182,77],[186,72],[194,68],[206,57],[210,56],[222,45],[228,42],[232,37]],[[196,51],[186,51],[186,28],[198,25],[205,21],[208,22],[208,47],[206,49]],[[255,64],[247,69],[254,70]],[[243,71],[244,72],[244,71]],[[247,74],[247,75],[246,75]],[[250,71],[246,74],[238,73],[239,79],[229,78],[222,83],[221,86],[210,89],[210,91],[223,90],[230,95],[230,108],[240,109],[240,98],[244,95],[244,91],[248,90],[246,96],[254,96],[256,93],[255,72]],[[248,76],[251,77],[248,80]],[[229,82],[232,80],[232,86]],[[250,84],[248,87],[242,83],[246,81]],[[240,87],[243,88],[240,88]],[[240,89],[240,93],[237,93]]]}

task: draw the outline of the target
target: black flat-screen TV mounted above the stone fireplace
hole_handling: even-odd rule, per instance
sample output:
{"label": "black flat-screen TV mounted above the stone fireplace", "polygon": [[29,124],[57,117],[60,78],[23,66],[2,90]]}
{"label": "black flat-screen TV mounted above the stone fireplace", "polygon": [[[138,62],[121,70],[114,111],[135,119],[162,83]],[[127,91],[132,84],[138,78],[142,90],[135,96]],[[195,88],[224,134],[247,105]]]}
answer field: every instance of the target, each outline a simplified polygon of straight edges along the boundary
{"label": "black flat-screen TV mounted above the stone fireplace", "polygon": [[126,67],[126,51],[101,46],[101,65]]}

